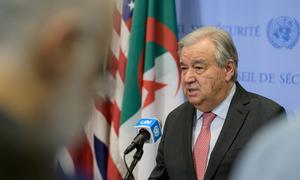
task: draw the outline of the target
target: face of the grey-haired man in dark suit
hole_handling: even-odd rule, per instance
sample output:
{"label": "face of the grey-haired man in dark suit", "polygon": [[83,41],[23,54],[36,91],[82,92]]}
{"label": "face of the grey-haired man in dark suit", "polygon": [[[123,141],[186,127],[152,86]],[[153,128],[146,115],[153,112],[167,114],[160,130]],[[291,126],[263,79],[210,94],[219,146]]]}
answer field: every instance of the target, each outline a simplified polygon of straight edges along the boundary
{"label": "face of the grey-haired man in dark suit", "polygon": [[226,96],[224,88],[232,77],[226,68],[217,65],[213,42],[204,38],[183,47],[180,63],[183,92],[188,101],[199,110],[212,110]]}

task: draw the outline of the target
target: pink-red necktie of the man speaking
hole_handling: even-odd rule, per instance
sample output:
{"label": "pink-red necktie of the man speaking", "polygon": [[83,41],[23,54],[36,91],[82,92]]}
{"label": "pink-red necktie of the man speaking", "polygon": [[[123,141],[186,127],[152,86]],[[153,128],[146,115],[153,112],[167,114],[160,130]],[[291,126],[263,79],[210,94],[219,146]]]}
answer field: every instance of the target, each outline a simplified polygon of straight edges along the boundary
{"label": "pink-red necktie of the man speaking", "polygon": [[198,180],[204,179],[207,156],[210,144],[210,125],[216,115],[212,112],[203,113],[202,127],[194,146],[194,163]]}

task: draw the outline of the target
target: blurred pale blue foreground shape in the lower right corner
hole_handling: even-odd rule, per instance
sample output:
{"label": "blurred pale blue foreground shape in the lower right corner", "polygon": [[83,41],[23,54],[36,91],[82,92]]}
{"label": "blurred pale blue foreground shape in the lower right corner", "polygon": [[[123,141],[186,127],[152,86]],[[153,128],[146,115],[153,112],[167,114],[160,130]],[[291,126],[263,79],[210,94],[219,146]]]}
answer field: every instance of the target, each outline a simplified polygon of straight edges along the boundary
{"label": "blurred pale blue foreground shape in the lower right corner", "polygon": [[300,114],[262,129],[241,154],[232,180],[300,179]]}

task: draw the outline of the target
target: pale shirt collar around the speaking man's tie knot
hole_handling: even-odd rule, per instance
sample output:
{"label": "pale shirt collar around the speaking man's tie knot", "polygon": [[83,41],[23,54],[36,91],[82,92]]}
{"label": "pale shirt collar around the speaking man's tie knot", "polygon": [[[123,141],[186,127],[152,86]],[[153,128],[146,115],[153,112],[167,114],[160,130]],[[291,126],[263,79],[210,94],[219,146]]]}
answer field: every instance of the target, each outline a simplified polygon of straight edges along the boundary
{"label": "pale shirt collar around the speaking man's tie knot", "polygon": [[[215,109],[212,110],[212,112],[216,114],[219,118],[225,120],[235,91],[236,91],[236,85],[233,84],[228,96]],[[203,112],[197,109],[196,113],[197,113],[196,114],[197,119],[200,119],[202,117]]]}

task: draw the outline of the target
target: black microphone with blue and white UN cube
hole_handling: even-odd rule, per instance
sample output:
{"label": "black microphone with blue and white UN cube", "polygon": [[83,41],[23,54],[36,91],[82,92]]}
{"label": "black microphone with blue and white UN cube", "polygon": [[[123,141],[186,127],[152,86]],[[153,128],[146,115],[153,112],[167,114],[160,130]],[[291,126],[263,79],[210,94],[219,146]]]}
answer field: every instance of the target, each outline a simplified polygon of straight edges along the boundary
{"label": "black microphone with blue and white UN cube", "polygon": [[125,155],[135,148],[142,147],[145,142],[156,143],[161,137],[161,123],[157,118],[142,118],[134,127],[138,134],[124,151]]}

